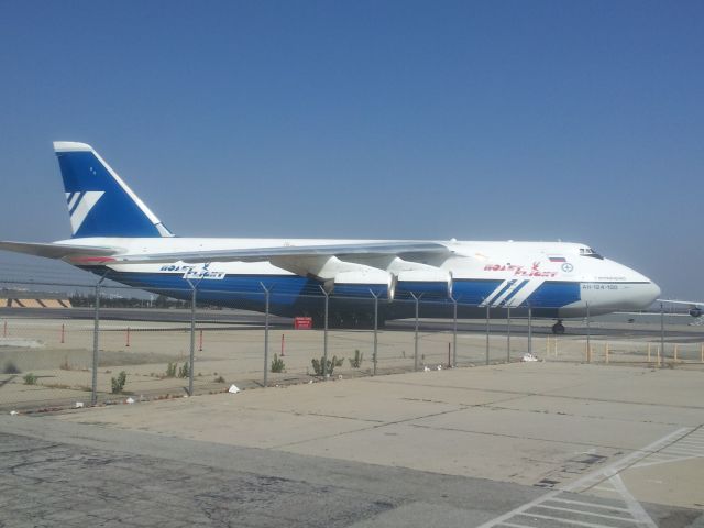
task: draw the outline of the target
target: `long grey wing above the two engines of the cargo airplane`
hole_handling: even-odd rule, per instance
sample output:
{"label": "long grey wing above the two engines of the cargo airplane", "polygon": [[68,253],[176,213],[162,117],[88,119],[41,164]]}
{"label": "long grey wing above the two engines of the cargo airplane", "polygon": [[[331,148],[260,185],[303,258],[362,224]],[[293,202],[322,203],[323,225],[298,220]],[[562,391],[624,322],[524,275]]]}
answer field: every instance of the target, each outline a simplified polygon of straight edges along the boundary
{"label": "long grey wing above the two engines of the cargo airplane", "polygon": [[118,263],[162,263],[182,261],[199,262],[260,262],[276,257],[320,257],[345,255],[405,255],[405,254],[450,254],[452,251],[437,242],[378,242],[362,244],[331,245],[285,245],[275,248],[249,248],[230,250],[185,251],[175,253],[135,253],[114,257]]}

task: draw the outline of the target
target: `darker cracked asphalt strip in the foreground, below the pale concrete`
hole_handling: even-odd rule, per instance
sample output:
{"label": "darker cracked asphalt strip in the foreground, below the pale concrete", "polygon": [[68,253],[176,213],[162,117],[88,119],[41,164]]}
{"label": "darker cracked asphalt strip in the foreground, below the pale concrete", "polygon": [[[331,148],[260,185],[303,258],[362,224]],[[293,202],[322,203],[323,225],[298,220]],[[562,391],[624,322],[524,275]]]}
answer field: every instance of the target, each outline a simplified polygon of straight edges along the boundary
{"label": "darker cracked asphalt strip in the foreground, below the pale concrete", "polygon": [[[558,527],[564,522],[536,515],[556,499],[584,502],[484,479],[29,420],[19,427],[23,435],[0,433],[2,528],[466,527],[532,503],[524,526]],[[2,421],[2,429],[18,429]],[[624,509],[592,498],[569,518],[571,526],[644,526]],[[697,510],[645,509],[657,526],[702,526],[694,524]],[[594,513],[614,515],[580,525],[593,522]]]}

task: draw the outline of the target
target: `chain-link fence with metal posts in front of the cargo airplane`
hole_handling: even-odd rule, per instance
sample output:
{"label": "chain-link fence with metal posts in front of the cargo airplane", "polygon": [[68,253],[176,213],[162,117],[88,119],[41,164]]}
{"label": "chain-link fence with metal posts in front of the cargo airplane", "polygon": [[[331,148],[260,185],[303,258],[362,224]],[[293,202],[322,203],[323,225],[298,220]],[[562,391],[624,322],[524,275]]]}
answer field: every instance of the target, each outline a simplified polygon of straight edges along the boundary
{"label": "chain-link fence with metal posts in front of the cargo airplane", "polygon": [[[704,363],[686,314],[565,321],[529,307],[320,292],[147,294],[116,283],[1,283],[0,407],[51,409],[516,361]],[[544,314],[542,310],[536,310]]]}

